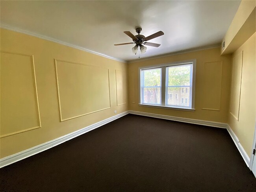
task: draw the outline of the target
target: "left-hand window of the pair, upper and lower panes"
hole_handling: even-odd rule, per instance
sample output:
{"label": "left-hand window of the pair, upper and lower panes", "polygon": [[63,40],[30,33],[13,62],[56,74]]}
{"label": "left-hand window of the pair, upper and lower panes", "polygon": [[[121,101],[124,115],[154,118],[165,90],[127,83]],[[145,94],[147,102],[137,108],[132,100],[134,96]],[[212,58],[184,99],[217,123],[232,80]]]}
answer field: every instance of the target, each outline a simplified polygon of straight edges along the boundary
{"label": "left-hand window of the pair, upper and lower panes", "polygon": [[161,68],[141,71],[141,103],[161,105]]}

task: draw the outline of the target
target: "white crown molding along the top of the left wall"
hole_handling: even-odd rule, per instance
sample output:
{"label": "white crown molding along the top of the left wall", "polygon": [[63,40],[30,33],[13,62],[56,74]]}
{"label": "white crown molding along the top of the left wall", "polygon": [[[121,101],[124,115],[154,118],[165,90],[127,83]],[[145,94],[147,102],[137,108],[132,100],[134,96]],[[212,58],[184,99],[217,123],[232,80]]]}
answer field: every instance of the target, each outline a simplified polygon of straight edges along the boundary
{"label": "white crown molding along the top of the left wall", "polygon": [[82,48],[80,46],[76,46],[76,45],[73,45],[73,44],[69,44],[67,42],[59,41],[57,39],[52,39],[52,38],[46,37],[44,35],[39,35],[39,34],[36,34],[36,33],[20,30],[18,28],[9,27],[9,26],[6,26],[6,25],[0,25],[0,28],[6,29],[6,30],[11,30],[11,31],[16,31],[16,32],[19,32],[19,33],[24,33],[26,35],[31,35],[31,36],[34,36],[34,37],[38,37],[40,39],[45,39],[47,41],[52,41],[52,42],[56,42],[56,43],[59,43],[59,44],[63,44],[65,46],[69,46],[69,47],[72,47],[72,48],[75,48],[75,49],[79,49],[79,50],[82,50],[82,51],[85,51],[85,52],[89,52],[91,54],[95,54],[95,55],[99,55],[99,56],[102,56],[102,57],[106,57],[108,59],[112,59],[112,60],[115,60],[115,61],[120,61],[120,62],[123,62],[123,63],[127,63],[127,61],[125,61],[123,59],[117,59],[115,57],[111,57],[111,56],[108,56],[108,55],[105,55],[105,54],[102,54],[102,53],[94,52],[94,51]]}

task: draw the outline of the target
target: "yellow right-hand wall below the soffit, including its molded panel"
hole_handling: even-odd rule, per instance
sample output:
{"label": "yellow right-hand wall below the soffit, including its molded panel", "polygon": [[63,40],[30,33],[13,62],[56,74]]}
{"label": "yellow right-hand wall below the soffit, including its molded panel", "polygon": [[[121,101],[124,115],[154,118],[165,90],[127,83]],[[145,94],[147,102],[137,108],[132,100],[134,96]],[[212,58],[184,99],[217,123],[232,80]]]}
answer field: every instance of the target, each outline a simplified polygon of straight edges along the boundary
{"label": "yellow right-hand wall below the soffit, including its molded panel", "polygon": [[[255,36],[254,33],[232,55],[232,86],[228,114],[228,124],[249,157],[256,117]],[[232,113],[233,111],[236,113]]]}

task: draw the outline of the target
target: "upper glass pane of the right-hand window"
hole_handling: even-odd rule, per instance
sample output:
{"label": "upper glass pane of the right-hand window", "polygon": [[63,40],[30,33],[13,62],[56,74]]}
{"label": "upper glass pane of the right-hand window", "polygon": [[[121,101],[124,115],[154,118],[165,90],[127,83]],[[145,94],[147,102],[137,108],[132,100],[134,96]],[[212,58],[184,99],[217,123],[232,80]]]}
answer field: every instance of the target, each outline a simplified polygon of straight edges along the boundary
{"label": "upper glass pane of the right-hand window", "polygon": [[191,66],[192,64],[167,67],[166,69],[168,70],[168,86],[190,85]]}

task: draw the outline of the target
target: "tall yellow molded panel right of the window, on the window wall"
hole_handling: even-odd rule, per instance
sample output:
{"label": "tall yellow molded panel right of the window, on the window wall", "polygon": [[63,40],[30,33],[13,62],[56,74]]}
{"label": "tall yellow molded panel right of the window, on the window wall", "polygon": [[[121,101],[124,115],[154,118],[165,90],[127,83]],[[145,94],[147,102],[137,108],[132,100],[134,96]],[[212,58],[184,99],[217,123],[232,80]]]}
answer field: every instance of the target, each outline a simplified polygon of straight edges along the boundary
{"label": "tall yellow molded panel right of the window, on the window wall", "polygon": [[220,111],[222,61],[204,63],[204,98],[202,109]]}

